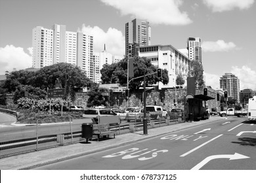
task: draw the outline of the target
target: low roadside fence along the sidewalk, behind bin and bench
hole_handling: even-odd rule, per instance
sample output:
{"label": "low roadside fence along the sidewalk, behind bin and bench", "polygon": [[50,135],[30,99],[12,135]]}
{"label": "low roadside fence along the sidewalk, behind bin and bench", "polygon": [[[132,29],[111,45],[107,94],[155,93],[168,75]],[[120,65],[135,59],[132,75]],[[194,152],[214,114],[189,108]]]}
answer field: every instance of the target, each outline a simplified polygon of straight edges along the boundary
{"label": "low roadside fence along the sidewalk, behind bin and bench", "polygon": [[[0,158],[79,142],[81,124],[85,123],[85,120],[70,120],[56,124],[2,123],[5,125],[0,125]],[[148,120],[148,128],[169,125],[169,122],[169,119]],[[172,123],[177,123],[177,120]],[[122,122],[110,126],[111,130],[117,131],[117,135],[140,131],[142,128],[143,122]]]}

